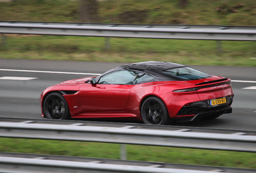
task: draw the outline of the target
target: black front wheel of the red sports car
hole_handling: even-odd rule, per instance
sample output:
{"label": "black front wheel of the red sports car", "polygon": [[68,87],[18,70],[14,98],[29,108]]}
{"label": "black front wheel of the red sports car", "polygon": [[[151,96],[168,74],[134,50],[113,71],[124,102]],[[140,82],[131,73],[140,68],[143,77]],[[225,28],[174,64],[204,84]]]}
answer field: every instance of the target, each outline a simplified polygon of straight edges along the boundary
{"label": "black front wheel of the red sports car", "polygon": [[70,118],[66,99],[57,92],[47,95],[43,102],[43,113],[47,119],[64,120]]}

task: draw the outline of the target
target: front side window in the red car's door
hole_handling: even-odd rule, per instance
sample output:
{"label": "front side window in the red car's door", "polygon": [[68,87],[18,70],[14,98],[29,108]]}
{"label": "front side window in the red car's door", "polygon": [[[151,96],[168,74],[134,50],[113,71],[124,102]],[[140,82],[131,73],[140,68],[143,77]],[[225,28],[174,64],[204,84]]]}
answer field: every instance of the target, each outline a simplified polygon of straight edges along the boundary
{"label": "front side window in the red car's door", "polygon": [[99,84],[132,84],[138,72],[131,70],[119,70],[102,76]]}

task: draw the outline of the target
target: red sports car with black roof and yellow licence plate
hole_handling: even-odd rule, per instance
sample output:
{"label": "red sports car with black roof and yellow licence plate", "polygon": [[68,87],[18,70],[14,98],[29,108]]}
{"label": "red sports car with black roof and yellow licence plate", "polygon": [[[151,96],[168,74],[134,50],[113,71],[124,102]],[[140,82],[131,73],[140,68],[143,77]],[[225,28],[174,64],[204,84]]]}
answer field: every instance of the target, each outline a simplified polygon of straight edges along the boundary
{"label": "red sports car with black roof and yellow licence plate", "polygon": [[230,79],[171,62],[139,62],[48,87],[42,117],[126,118],[145,124],[214,119],[231,113]]}

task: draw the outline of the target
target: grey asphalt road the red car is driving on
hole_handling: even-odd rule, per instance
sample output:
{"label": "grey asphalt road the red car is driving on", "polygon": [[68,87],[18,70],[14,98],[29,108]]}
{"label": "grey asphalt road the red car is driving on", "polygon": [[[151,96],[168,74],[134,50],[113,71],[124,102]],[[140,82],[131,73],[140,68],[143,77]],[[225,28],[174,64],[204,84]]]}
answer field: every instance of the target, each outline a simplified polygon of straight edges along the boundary
{"label": "grey asphalt road the red car is driving on", "polygon": [[[126,63],[0,59],[0,117],[41,119],[39,95],[46,87],[69,79],[94,76],[92,74],[55,72],[100,74],[123,64]],[[234,80],[231,83],[235,93],[232,105],[233,113],[221,115],[214,120],[177,123],[176,125],[256,131],[256,68],[192,67]],[[10,71],[10,69],[14,71]],[[37,72],[25,70],[36,70]],[[4,79],[6,76],[15,78],[13,78],[14,80]],[[33,79],[21,80],[25,79],[24,77]],[[251,89],[244,89],[246,87],[251,87]]]}

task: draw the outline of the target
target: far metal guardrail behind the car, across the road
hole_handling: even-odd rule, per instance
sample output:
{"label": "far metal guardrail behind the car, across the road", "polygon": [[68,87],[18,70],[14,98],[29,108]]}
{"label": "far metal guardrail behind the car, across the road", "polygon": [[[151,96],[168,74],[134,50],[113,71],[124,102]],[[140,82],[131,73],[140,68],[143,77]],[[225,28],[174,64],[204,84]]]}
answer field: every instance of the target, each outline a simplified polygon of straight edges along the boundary
{"label": "far metal guardrail behind the car, across the road", "polygon": [[0,21],[3,34],[256,41],[254,26],[87,24]]}

